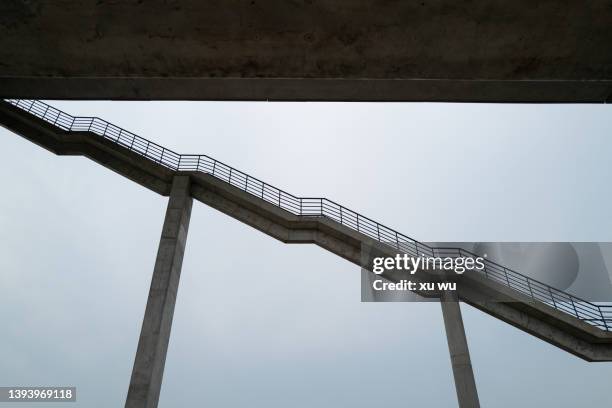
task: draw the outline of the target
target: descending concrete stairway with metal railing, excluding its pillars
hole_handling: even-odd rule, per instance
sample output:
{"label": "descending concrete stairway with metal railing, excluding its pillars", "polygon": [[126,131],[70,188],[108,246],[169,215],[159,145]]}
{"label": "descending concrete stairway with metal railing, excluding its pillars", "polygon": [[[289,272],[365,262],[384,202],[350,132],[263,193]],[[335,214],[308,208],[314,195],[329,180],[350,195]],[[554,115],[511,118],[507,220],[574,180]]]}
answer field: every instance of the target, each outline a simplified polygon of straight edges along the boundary
{"label": "descending concrete stairway with metal railing, excluding its pillars", "polygon": [[[294,196],[208,156],[181,155],[100,118],[73,117],[40,101],[1,101],[0,124],[55,154],[86,156],[164,196],[176,175],[188,175],[196,200],[282,242],[313,243],[359,266],[364,251],[476,257],[430,247],[326,198]],[[459,300],[585,360],[612,361],[611,306],[491,260],[482,273],[457,279]]]}

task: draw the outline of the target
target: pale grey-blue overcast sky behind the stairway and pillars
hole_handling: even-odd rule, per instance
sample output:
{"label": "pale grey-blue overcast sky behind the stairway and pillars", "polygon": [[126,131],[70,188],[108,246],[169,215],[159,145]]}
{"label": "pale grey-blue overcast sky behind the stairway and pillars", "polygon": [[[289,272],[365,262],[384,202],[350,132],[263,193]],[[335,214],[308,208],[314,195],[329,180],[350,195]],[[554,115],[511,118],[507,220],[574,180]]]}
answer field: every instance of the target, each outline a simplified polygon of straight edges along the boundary
{"label": "pale grey-blue overcast sky behind the stairway and pillars", "polygon": [[[606,105],[52,104],[423,241],[612,241]],[[0,385],[122,406],[166,200],[4,129],[0,149]],[[359,284],[194,203],[160,407],[455,406],[440,306],[362,304]],[[612,402],[612,364],[462,309],[483,406]]]}

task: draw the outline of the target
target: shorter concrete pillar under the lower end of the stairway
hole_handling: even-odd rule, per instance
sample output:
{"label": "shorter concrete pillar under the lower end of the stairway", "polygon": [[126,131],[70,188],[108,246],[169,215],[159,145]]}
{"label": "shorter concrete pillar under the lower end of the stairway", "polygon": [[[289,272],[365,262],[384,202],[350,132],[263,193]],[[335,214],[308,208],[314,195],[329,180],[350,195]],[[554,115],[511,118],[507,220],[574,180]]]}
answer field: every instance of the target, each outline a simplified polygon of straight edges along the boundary
{"label": "shorter concrete pillar under the lower end of the stairway", "polygon": [[472,370],[470,351],[465,337],[465,328],[463,327],[457,294],[454,291],[444,292],[440,304],[442,305],[442,316],[459,407],[479,408],[476,381],[474,380],[474,371]]}

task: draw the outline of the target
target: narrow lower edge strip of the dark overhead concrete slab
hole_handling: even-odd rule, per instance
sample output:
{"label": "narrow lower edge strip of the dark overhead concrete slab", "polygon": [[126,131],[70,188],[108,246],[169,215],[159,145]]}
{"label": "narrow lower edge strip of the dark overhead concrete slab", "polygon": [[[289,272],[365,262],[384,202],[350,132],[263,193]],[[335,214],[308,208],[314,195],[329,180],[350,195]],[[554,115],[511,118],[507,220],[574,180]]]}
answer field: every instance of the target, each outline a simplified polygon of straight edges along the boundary
{"label": "narrow lower edge strip of the dark overhead concrete slab", "polygon": [[612,80],[312,78],[0,78],[26,99],[607,103]]}

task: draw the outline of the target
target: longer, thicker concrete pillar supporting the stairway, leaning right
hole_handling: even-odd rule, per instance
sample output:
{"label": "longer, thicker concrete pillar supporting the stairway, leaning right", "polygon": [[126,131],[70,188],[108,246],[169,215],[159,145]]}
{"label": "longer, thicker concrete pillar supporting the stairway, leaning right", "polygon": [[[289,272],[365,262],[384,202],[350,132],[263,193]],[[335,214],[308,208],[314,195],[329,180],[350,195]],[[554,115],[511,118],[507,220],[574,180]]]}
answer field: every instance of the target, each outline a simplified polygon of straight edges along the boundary
{"label": "longer, thicker concrete pillar supporting the stairway, leaning right", "polygon": [[192,198],[188,176],[175,176],[168,199],[126,408],[156,408],[170,340]]}

